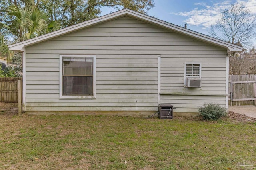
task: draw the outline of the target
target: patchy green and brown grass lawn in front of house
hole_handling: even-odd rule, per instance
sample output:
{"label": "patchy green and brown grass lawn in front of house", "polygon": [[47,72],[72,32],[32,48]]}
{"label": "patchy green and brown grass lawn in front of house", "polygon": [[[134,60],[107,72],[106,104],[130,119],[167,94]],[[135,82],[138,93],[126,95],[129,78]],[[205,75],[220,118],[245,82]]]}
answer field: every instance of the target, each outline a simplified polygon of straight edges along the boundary
{"label": "patchy green and brown grass lawn in front of house", "polygon": [[256,167],[256,123],[0,113],[0,169]]}

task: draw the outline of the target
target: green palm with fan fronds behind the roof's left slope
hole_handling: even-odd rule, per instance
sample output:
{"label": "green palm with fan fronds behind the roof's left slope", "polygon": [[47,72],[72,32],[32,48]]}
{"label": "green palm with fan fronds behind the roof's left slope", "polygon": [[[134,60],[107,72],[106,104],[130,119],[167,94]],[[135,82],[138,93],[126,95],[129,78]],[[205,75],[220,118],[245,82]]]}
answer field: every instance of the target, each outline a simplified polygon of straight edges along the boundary
{"label": "green palm with fan fronds behind the roof's left slope", "polygon": [[[44,12],[33,6],[31,8],[10,6],[7,14],[14,18],[9,30],[16,35],[16,42],[44,35],[60,28],[60,24],[57,21],[50,21]],[[9,51],[8,46],[5,44],[4,36],[1,35],[0,56],[7,57],[7,61],[12,61],[13,55],[14,52]]]}

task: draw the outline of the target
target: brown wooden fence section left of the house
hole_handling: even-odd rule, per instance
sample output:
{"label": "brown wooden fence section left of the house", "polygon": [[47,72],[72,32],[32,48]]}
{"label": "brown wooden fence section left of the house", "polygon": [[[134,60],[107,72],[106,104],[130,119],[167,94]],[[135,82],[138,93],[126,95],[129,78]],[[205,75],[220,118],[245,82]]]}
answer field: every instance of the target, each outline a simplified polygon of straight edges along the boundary
{"label": "brown wooden fence section left of the house", "polygon": [[0,77],[0,102],[18,102],[18,80],[22,81],[22,78]]}

